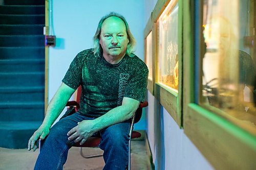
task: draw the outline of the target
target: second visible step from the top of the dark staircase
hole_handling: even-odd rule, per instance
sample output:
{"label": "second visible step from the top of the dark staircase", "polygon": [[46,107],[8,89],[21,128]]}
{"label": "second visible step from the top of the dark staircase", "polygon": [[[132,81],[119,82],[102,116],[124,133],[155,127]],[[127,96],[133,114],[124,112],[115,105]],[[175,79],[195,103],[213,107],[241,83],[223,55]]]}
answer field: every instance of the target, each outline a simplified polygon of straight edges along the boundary
{"label": "second visible step from the top of the dark staircase", "polygon": [[45,14],[44,5],[0,5],[0,14]]}

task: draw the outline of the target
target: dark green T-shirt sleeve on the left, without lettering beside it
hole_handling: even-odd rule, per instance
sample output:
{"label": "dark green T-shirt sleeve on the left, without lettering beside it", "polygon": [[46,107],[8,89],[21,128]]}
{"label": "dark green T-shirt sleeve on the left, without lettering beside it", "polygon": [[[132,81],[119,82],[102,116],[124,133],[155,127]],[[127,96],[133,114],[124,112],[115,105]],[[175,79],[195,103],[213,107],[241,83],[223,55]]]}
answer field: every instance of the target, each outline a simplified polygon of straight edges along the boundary
{"label": "dark green T-shirt sleeve on the left, without lettering beside it", "polygon": [[80,86],[82,80],[81,62],[79,62],[79,54],[71,62],[62,82],[73,88],[74,90]]}

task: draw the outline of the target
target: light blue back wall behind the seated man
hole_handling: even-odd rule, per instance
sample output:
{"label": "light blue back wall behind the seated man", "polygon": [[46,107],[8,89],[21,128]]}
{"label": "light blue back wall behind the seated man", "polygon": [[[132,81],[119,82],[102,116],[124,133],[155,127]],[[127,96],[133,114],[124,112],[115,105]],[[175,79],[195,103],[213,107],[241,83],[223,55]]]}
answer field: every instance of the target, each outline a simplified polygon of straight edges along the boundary
{"label": "light blue back wall behind the seated man", "polygon": [[[100,18],[109,12],[123,15],[137,40],[135,54],[144,58],[144,0],[53,1],[52,26],[56,47],[49,50],[49,102],[61,84],[73,58],[80,51],[93,47],[92,38]],[[145,118],[135,129],[145,130]]]}

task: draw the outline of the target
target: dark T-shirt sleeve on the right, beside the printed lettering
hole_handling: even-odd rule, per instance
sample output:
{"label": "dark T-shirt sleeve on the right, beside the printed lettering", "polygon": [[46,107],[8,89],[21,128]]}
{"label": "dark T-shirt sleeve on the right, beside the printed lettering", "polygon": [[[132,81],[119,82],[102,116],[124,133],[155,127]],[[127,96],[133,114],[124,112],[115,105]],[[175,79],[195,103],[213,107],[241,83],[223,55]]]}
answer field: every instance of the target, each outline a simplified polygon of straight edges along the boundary
{"label": "dark T-shirt sleeve on the right, beside the printed lettering", "polygon": [[136,74],[133,77],[131,77],[130,81],[126,86],[124,97],[144,102],[147,86],[148,69],[145,64],[144,67],[142,68],[143,69],[138,69],[138,71],[136,71]]}

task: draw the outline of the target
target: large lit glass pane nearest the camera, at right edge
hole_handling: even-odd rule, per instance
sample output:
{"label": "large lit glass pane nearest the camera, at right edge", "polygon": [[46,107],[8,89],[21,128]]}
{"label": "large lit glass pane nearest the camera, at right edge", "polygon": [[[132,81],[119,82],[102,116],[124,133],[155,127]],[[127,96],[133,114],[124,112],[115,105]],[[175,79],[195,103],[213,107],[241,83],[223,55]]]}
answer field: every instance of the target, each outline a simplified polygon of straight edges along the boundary
{"label": "large lit glass pane nearest the camera, at right edge", "polygon": [[200,104],[256,135],[252,5],[204,1]]}

